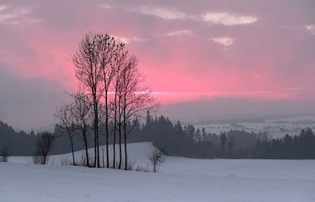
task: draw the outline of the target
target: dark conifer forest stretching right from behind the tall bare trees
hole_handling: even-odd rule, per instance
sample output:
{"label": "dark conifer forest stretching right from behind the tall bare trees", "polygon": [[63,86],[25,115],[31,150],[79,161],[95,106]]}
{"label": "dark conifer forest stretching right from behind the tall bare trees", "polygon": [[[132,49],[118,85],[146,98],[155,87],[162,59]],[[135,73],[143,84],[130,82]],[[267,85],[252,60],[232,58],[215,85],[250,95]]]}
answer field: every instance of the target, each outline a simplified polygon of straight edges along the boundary
{"label": "dark conifer forest stretching right from behind the tall bare trees", "polygon": [[[147,114],[146,124],[137,129],[140,139],[152,141],[169,155],[192,158],[227,159],[315,159],[315,136],[311,129],[283,138],[270,138],[266,133],[230,130],[207,134],[193,125],[173,124],[164,116]],[[134,134],[135,136],[135,134]],[[146,138],[144,138],[146,136]]]}

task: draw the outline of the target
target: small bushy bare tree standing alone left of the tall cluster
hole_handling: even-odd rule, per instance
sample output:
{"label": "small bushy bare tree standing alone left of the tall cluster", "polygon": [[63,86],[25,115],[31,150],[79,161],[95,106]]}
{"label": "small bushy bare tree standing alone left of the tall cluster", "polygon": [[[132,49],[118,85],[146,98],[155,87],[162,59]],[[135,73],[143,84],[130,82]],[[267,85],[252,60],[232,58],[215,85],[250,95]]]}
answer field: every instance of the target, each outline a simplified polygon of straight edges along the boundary
{"label": "small bushy bare tree standing alone left of the tall cluster", "polygon": [[36,153],[34,157],[34,163],[48,164],[48,154],[52,150],[52,143],[55,140],[55,136],[47,131],[38,134],[36,141]]}

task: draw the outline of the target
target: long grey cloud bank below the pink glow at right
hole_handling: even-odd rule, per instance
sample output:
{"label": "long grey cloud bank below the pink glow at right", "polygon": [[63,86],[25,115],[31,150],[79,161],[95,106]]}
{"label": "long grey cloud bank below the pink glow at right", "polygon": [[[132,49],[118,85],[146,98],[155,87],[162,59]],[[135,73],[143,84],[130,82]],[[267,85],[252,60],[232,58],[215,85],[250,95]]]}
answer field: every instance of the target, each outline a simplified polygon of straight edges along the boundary
{"label": "long grey cloud bank below the pink glow at right", "polygon": [[267,100],[253,98],[216,98],[163,106],[160,114],[172,120],[221,120],[274,115],[315,114],[314,101]]}

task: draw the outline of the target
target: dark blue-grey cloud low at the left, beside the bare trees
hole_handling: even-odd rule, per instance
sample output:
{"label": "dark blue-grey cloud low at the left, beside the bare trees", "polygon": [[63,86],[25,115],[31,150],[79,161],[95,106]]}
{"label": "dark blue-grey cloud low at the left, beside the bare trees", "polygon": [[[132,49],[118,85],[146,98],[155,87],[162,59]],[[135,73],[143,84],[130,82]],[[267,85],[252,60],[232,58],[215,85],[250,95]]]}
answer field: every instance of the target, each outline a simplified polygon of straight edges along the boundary
{"label": "dark blue-grey cloud low at the left, beside the bare trees", "polygon": [[19,128],[53,123],[52,113],[66,101],[65,89],[45,78],[19,78],[0,64],[1,120]]}

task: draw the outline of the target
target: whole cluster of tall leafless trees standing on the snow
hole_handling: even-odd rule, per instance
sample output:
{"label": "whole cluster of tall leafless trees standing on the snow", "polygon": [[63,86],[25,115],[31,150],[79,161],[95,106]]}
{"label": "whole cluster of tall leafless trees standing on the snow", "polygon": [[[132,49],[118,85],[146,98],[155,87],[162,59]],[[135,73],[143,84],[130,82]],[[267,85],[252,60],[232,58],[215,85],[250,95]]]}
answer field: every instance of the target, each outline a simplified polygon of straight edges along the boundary
{"label": "whole cluster of tall leafless trees standing on the snow", "polygon": [[[99,124],[105,125],[106,167],[127,169],[127,134],[130,122],[137,121],[147,110],[156,110],[158,102],[148,87],[143,85],[144,75],[139,72],[138,60],[130,55],[125,44],[108,34],[85,34],[72,56],[76,78],[80,87],[72,94],[71,103],[63,104],[55,113],[58,124],[71,140],[80,134],[85,143],[87,166],[101,167]],[[109,127],[109,123],[113,123]],[[89,162],[87,131],[94,134],[94,161]],[[119,161],[116,165],[116,148],[110,164],[109,137],[119,143]],[[124,145],[122,145],[124,143]],[[123,148],[125,166],[123,166]],[[75,158],[73,154],[73,164]]]}

